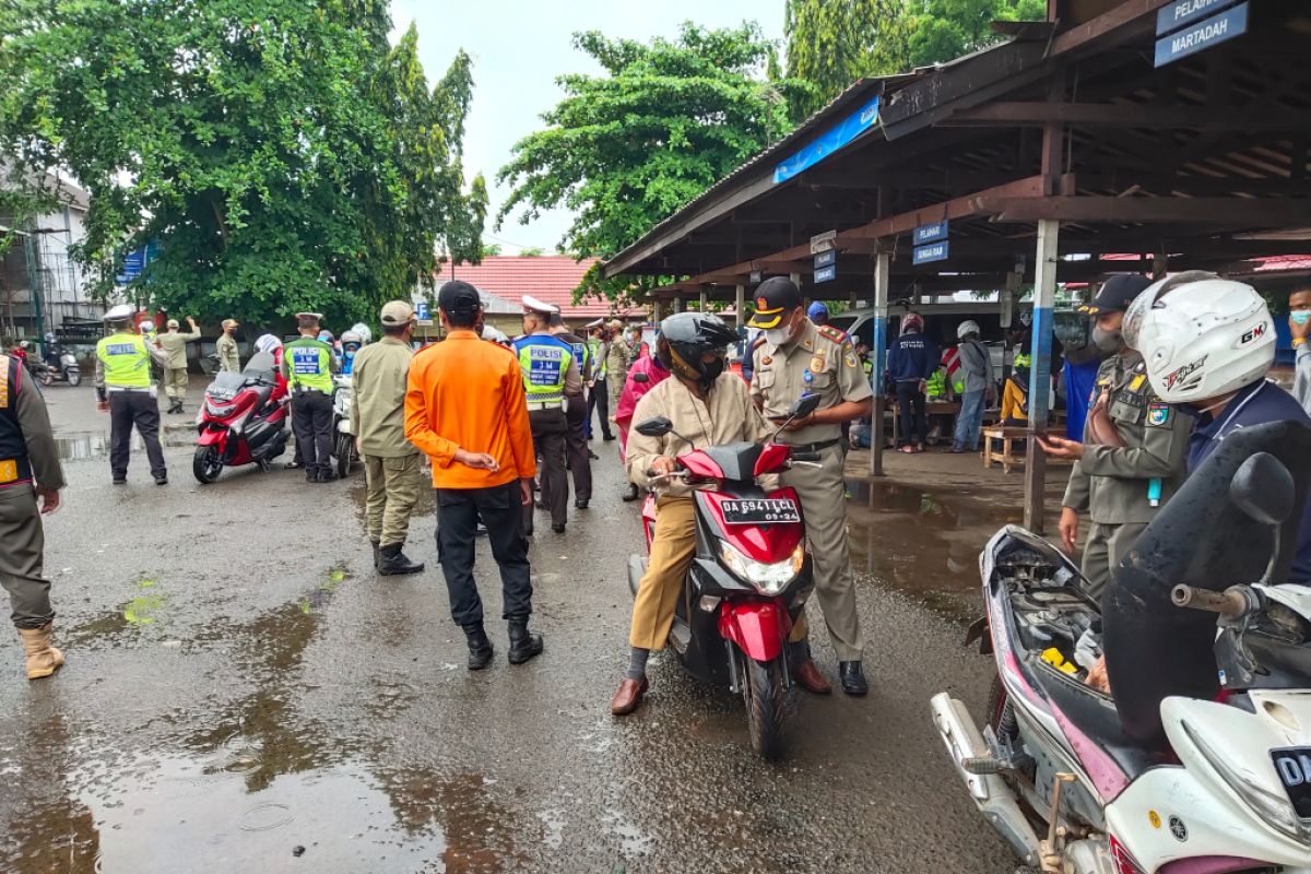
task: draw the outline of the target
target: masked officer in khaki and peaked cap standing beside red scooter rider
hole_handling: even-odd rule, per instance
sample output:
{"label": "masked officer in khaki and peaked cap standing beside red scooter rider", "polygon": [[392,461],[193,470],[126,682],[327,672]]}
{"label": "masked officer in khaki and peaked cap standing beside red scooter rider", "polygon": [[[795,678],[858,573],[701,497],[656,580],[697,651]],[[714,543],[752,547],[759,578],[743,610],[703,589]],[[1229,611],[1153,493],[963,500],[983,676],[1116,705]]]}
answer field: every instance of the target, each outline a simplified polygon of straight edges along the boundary
{"label": "masked officer in khaki and peaked cap standing beside red scooter rider", "polygon": [[[749,324],[764,330],[764,342],[754,352],[751,397],[767,419],[779,423],[802,394],[818,393],[822,398],[813,414],[780,435],[801,452],[818,452],[821,466],[797,466],[783,474],[783,485],[796,489],[801,498],[814,557],[815,594],[838,651],[842,688],[847,694],[865,694],[860,667],[864,641],[847,557],[846,453],[838,440],[843,422],[869,415],[873,392],[846,334],[815,328],[801,303],[801,291],[785,276],[766,279],[756,288],[755,314]],[[812,692],[829,691],[809,658],[801,660],[797,674]]]}

